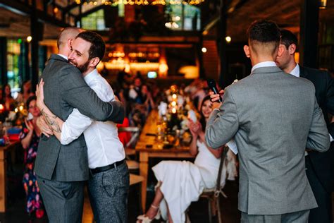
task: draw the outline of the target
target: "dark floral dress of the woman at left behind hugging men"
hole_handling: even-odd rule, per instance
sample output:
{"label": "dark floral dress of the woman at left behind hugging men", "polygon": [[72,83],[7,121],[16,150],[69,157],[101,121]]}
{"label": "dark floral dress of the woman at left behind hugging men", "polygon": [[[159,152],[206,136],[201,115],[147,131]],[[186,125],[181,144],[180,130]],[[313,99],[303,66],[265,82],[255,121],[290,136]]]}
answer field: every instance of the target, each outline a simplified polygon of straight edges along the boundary
{"label": "dark floral dress of the woman at left behind hugging men", "polygon": [[[28,132],[29,130],[27,129],[27,126],[23,124],[23,128],[20,133],[20,140],[23,140],[23,138],[27,136]],[[27,150],[25,150],[25,170],[23,172],[23,187],[25,189],[25,194],[27,195],[26,210],[29,214],[36,211],[36,215],[39,215],[39,212],[44,212],[42,198],[37,186],[37,179],[34,172],[38,143],[39,137],[34,131],[30,145]]]}

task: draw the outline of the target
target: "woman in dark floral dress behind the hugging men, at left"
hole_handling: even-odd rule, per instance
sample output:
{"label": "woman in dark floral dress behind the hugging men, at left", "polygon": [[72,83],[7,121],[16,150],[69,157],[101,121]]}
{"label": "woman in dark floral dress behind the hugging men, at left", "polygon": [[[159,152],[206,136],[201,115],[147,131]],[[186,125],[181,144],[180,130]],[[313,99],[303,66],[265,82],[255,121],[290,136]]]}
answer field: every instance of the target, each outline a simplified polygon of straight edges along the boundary
{"label": "woman in dark floral dress behind the hugging men, at left", "polygon": [[44,205],[34,172],[39,136],[41,135],[41,130],[36,125],[37,118],[41,114],[36,105],[36,96],[31,96],[27,99],[27,109],[32,114],[32,119],[25,120],[20,133],[21,144],[25,150],[25,170],[23,173],[23,187],[27,195],[25,209],[29,215],[35,212],[36,217],[41,218],[44,215]]}

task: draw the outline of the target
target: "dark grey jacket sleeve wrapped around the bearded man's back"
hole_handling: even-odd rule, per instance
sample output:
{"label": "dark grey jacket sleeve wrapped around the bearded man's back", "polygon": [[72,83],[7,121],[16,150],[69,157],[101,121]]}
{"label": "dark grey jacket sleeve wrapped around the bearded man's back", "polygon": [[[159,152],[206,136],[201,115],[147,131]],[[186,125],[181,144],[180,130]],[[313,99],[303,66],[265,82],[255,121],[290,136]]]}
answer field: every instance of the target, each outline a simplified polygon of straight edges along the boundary
{"label": "dark grey jacket sleeve wrapped around the bearded man's back", "polygon": [[59,82],[63,88],[63,100],[68,104],[77,108],[81,114],[97,121],[123,122],[125,109],[121,102],[101,101],[74,66],[66,66],[60,73]]}

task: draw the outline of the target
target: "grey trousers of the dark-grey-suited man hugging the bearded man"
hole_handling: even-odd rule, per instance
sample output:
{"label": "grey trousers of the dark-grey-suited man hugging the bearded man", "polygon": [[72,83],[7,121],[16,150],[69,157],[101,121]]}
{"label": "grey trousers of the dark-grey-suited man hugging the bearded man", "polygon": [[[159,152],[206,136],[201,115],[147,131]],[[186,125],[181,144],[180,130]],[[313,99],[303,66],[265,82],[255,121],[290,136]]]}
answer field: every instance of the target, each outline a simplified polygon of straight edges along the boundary
{"label": "grey trousers of the dark-grey-suited man hugging the bearded man", "polygon": [[37,176],[50,223],[81,222],[85,181],[61,182]]}

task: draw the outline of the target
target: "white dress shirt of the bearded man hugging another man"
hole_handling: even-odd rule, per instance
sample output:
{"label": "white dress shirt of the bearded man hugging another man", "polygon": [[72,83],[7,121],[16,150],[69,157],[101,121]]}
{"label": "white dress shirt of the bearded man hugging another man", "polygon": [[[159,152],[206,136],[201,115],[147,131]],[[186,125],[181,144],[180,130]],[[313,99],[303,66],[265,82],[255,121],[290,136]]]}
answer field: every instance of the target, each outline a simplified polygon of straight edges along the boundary
{"label": "white dress shirt of the bearded man hugging another man", "polygon": [[[85,82],[104,102],[115,100],[113,89],[102,78],[97,69],[85,76]],[[112,121],[94,121],[73,109],[61,128],[61,144],[66,145],[77,139],[82,132],[85,135],[90,169],[104,167],[125,158],[123,144],[118,138],[116,123]]]}

